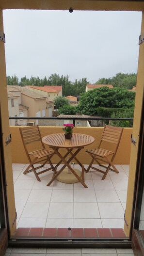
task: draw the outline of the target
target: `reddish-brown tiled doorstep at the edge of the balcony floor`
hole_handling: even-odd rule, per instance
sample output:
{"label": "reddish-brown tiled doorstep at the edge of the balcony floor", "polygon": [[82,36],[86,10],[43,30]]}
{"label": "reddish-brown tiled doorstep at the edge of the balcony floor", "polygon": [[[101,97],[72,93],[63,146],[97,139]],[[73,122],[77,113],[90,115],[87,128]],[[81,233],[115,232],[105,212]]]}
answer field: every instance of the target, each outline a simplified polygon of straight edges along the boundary
{"label": "reddish-brown tiled doorstep at the edge of the balcony floor", "polygon": [[128,238],[122,228],[19,227],[13,238]]}

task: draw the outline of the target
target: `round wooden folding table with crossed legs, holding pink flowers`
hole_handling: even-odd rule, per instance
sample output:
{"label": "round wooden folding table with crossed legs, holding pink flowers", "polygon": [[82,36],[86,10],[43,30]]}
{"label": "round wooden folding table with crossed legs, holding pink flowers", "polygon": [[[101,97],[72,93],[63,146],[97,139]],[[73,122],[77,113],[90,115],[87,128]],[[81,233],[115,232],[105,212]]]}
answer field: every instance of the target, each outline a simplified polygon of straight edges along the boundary
{"label": "round wooden folding table with crossed legs, holding pink flowers", "polygon": [[[80,152],[84,146],[92,144],[95,141],[94,137],[87,135],[87,134],[81,134],[81,133],[73,133],[72,138],[70,140],[65,139],[64,133],[55,133],[50,134],[42,138],[42,142],[44,144],[47,144],[50,148],[53,149],[53,151],[59,156],[60,161],[57,163],[54,169],[54,174],[52,176],[52,179],[47,184],[49,186],[64,170],[65,167],[67,167],[71,173],[80,181],[80,183],[87,188],[87,185],[84,183],[84,171],[85,168],[83,164],[78,160],[76,157],[77,154]],[[59,149],[65,148],[67,150],[67,153],[63,156],[62,153],[59,152]],[[66,160],[66,157],[70,155],[70,157]],[[71,167],[71,161],[75,159],[77,163],[80,165],[82,169],[81,177],[77,174],[75,169]],[[63,167],[57,171],[58,166],[61,163],[64,163]]]}

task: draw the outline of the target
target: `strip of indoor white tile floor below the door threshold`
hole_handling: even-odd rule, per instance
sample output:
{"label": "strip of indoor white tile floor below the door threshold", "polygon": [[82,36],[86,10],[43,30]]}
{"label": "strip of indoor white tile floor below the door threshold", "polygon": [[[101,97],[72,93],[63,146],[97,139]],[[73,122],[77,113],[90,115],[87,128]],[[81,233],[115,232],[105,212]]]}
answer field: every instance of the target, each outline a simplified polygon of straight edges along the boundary
{"label": "strip of indoor white tile floor below the door threshold", "polygon": [[7,248],[5,256],[134,256],[132,249]]}

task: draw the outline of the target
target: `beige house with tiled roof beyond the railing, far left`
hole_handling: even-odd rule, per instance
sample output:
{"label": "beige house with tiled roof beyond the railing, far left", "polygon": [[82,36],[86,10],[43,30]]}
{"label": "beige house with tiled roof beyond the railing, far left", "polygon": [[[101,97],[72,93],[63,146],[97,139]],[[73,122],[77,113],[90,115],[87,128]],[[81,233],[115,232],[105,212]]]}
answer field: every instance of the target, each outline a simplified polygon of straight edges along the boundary
{"label": "beige house with tiled roof beyond the railing, far left", "polygon": [[[8,85],[9,116],[16,117],[51,117],[54,101],[47,101],[41,91],[30,90],[29,86]],[[11,102],[10,102],[11,100]],[[38,124],[38,120],[10,120],[11,125]]]}

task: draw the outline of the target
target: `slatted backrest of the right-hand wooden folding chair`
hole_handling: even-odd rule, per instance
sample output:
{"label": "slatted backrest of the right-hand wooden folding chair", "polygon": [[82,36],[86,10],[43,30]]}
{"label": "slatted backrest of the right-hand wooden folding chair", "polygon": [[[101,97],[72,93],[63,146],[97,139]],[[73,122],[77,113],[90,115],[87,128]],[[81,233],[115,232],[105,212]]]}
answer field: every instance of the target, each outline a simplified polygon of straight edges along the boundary
{"label": "slatted backrest of the right-hand wooden folding chair", "polygon": [[99,147],[102,142],[108,142],[111,144],[115,144],[116,147],[115,147],[114,152],[116,153],[117,148],[120,143],[120,140],[121,140],[121,137],[122,137],[122,132],[123,132],[123,128],[105,125]]}

